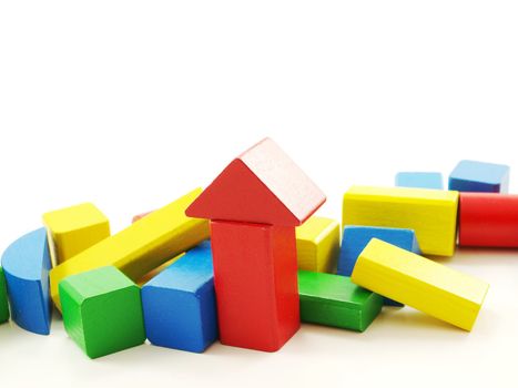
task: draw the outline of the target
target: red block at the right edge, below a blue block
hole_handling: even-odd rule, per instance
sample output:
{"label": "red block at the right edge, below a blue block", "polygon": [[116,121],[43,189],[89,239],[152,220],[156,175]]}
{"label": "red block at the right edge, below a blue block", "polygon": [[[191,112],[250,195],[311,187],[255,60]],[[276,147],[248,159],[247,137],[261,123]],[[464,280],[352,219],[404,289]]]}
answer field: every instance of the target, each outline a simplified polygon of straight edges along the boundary
{"label": "red block at the right edge, below a blue block", "polygon": [[460,193],[459,245],[518,247],[518,195]]}

